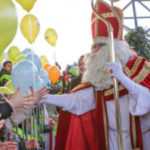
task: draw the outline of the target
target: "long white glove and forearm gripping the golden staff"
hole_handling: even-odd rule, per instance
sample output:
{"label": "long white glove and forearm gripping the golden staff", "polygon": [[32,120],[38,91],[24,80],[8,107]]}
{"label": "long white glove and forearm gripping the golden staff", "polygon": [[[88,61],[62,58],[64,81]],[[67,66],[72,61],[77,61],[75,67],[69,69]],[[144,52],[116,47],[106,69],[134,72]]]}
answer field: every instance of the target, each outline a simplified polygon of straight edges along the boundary
{"label": "long white glove and forearm gripping the golden staff", "polygon": [[121,64],[111,62],[106,65],[110,70],[112,70],[112,73],[110,73],[111,77],[115,77],[129,91],[130,94],[138,95],[141,85],[135,83],[124,74]]}

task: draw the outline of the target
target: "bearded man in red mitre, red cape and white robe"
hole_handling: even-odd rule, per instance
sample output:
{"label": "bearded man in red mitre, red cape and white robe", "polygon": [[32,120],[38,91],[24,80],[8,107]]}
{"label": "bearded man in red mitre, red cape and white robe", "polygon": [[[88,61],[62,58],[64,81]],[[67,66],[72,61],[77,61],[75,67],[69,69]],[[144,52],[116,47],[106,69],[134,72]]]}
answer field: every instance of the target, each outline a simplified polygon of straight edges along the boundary
{"label": "bearded man in red mitre, red cape and white robe", "polygon": [[62,107],[55,150],[118,150],[111,77],[118,80],[124,150],[149,150],[150,62],[122,40],[119,8],[99,1],[96,9],[114,29],[116,62],[110,63],[107,26],[92,14],[94,41],[85,56],[82,84],[69,94],[47,95],[40,102]]}

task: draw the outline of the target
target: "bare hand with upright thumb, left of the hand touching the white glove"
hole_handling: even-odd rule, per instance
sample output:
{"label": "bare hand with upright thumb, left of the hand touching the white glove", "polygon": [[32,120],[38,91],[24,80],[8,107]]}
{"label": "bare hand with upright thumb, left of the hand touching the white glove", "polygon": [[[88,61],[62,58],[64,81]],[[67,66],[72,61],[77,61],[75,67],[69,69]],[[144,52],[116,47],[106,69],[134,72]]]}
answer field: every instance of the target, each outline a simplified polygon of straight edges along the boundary
{"label": "bare hand with upright thumb, left of the hand touching the white glove", "polygon": [[10,99],[10,103],[13,107],[27,108],[34,105],[35,97],[33,97],[32,94],[20,94],[19,92],[20,87],[17,88]]}

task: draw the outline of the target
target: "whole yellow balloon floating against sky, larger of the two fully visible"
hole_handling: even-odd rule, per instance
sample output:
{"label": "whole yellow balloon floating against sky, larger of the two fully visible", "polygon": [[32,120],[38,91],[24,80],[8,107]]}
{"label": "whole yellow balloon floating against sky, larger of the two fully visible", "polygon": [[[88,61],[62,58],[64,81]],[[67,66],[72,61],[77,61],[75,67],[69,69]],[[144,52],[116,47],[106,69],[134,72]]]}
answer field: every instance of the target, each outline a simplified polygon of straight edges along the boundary
{"label": "whole yellow balloon floating against sky, larger of the two fully visible", "polygon": [[21,32],[29,43],[33,43],[40,31],[40,24],[33,15],[26,15],[21,21]]}

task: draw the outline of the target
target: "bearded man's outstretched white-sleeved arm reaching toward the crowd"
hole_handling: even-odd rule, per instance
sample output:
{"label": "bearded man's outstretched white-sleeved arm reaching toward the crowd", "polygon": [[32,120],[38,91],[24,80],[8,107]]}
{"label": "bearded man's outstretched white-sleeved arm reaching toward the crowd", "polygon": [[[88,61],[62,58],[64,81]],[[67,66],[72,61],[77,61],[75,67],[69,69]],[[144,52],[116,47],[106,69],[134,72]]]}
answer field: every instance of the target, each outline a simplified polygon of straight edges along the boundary
{"label": "bearded man's outstretched white-sleeved arm reaching toward the crowd", "polygon": [[40,103],[52,104],[62,107],[64,111],[69,111],[76,115],[84,114],[95,108],[93,88],[83,89],[71,94],[46,95],[47,98]]}

